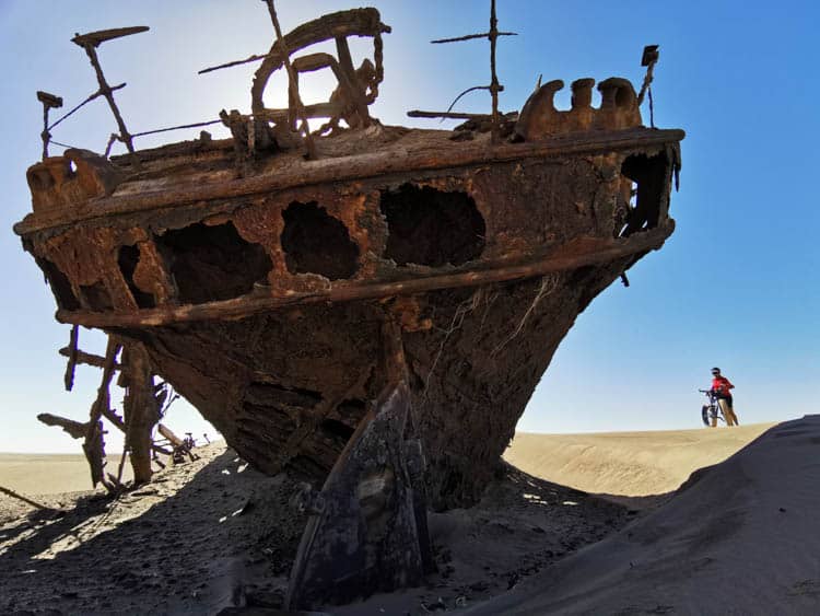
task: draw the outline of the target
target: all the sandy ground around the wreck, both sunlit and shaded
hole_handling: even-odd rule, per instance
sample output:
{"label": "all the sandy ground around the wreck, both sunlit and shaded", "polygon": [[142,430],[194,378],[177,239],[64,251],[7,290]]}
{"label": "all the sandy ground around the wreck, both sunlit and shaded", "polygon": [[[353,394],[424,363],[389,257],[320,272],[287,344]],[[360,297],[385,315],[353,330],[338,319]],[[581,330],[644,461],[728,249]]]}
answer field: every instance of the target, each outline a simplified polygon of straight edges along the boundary
{"label": "all the sandy ground around the wreck, both sunlit and shaded", "polygon": [[[600,475],[593,489],[630,505],[507,466],[479,505],[431,513],[438,572],[424,586],[326,611],[818,614],[820,416],[774,428],[663,501],[642,496],[765,428],[518,435],[507,460],[574,486]],[[81,456],[36,456],[27,470],[0,456],[1,486],[65,508],[0,495],[0,614],[276,614],[304,523],[288,505],[295,481],[222,443],[197,451],[116,500],[31,491],[85,487]]]}

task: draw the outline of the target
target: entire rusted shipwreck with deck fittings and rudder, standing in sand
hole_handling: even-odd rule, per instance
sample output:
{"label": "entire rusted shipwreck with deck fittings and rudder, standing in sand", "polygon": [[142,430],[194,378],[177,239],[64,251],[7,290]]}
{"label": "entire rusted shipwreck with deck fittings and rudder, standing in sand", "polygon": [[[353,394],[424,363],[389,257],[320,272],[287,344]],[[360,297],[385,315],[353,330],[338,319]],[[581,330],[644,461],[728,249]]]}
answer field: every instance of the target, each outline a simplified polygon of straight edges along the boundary
{"label": "entire rusted shipwreck with deck fittings and rudder, standing in sand", "polygon": [[[277,37],[249,59],[250,113],[214,120],[230,139],[136,149],[96,50],[145,28],[78,35],[118,123],[108,149],[128,153],[48,155],[61,100],[39,93],[44,158],[14,229],[57,318],[117,340],[96,360],[108,381],[124,345],[132,382],[161,375],[256,468],[314,487],[288,600],[302,608],[430,570],[426,508],[478,500],[577,315],[672,233],[684,135],[643,126],[656,46],[640,92],[605,79],[594,106],[596,81],[578,79],[561,111],[563,82],[539,80],[501,113],[494,2],[489,31],[458,38],[490,42],[491,113],[411,113],[465,119],[455,130],[385,126],[370,113],[390,32],[379,13],[282,34],[268,4]],[[373,40],[358,67],[352,36]],[[304,51],[327,40],[336,55]],[[262,100],[277,70],[288,108]],[[317,70],[339,85],[303,104],[300,74]],[[131,402],[137,418],[147,403]],[[95,405],[86,437],[106,411]]]}

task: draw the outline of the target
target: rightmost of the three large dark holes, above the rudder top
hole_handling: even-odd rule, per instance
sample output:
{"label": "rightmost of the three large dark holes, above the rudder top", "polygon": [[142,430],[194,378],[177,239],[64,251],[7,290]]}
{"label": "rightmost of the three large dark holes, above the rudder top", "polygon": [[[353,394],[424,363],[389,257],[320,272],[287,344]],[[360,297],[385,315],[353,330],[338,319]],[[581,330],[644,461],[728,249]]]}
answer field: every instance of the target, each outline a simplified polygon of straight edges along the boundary
{"label": "rightmost of the three large dark holes, above the rudder top", "polygon": [[487,226],[466,193],[405,184],[382,193],[387,221],[385,258],[397,265],[462,265],[481,256]]}

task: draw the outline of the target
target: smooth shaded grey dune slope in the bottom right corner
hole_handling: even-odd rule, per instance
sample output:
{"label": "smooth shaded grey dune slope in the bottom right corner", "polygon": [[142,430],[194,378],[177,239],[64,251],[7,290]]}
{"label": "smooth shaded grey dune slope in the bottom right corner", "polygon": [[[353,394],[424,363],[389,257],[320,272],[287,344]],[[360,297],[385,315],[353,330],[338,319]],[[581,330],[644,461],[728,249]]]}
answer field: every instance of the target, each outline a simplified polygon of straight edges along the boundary
{"label": "smooth shaded grey dune slope in the bottom right corner", "polygon": [[820,614],[820,415],[469,614]]}

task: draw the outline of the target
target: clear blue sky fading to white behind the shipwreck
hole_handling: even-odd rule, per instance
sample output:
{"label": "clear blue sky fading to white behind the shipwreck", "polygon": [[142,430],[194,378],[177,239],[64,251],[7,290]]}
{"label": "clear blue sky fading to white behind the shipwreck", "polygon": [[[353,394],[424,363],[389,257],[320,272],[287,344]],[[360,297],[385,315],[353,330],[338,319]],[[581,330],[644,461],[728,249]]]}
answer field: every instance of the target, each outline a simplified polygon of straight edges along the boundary
{"label": "clear blue sky fading to white behind the shipwreck", "polygon": [[[433,46],[429,40],[487,27],[489,0],[373,0],[383,21],[386,79],[373,114],[410,120],[411,108],[446,108],[471,85],[488,83],[487,42]],[[323,13],[360,5],[279,0],[285,31]],[[561,345],[518,428],[582,432],[698,427],[698,387],[719,365],[737,386],[741,422],[817,412],[820,394],[820,172],[816,2],[611,2],[499,0],[504,38],[499,72],[504,111],[519,109],[543,80],[626,77],[640,85],[645,44],[660,45],[655,121],[679,127],[681,190],[672,196],[677,230],[666,246],[630,272],[631,287],[605,291]],[[25,170],[40,155],[46,90],[71,108],[96,83],[75,32],[150,25],[151,32],[101,47],[131,132],[248,111],[254,67],[198,77],[197,70],[266,51],[272,28],[258,0],[0,0],[2,150],[0,186],[0,451],[79,451],[35,415],[83,420],[99,372],[80,369],[62,391],[57,349],[69,327],[54,319],[43,275],[11,226],[31,211]],[[354,54],[367,46],[354,47]],[[328,77],[305,82],[307,98],[327,97]],[[283,102],[283,82],[268,89]],[[277,101],[279,98],[279,101]],[[558,98],[569,105],[569,93]],[[485,93],[459,108],[487,111]],[[597,104],[597,101],[596,101]],[[644,111],[644,117],[647,117]],[[448,125],[443,125],[448,126]],[[116,130],[101,100],[54,131],[56,140],[103,151]],[[214,135],[221,137],[219,129]],[[142,139],[138,147],[189,139],[197,131]],[[59,153],[60,148],[52,148]],[[102,352],[103,338],[81,333]],[[179,405],[168,423],[197,433],[212,428]],[[116,439],[112,439],[116,451]]]}

